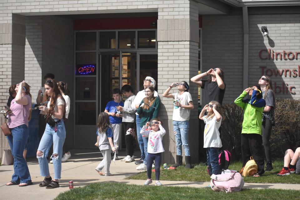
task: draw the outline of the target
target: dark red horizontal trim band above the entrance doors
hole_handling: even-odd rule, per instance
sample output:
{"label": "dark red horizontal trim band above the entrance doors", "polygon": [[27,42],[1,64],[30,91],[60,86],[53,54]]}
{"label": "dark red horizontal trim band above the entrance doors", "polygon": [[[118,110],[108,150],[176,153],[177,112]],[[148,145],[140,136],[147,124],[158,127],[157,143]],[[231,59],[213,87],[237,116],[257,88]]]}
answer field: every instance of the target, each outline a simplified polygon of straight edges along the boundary
{"label": "dark red horizontal trim band above the entrance doors", "polygon": [[[157,29],[158,17],[76,19],[74,30]],[[152,23],[156,26],[153,27]]]}

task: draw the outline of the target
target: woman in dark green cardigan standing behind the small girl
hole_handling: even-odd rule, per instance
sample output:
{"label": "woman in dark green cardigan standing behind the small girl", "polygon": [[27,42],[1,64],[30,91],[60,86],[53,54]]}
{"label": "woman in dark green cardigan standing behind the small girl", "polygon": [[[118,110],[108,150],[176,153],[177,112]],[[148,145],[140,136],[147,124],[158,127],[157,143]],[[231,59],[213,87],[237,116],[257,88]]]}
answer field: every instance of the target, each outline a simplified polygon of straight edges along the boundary
{"label": "woman in dark green cardigan standing behind the small girl", "polygon": [[[141,123],[140,123],[141,127],[146,125],[147,122],[150,122],[152,118],[157,118],[159,108],[160,108],[160,99],[159,97],[154,97],[154,88],[152,86],[145,88],[145,96],[146,97],[141,101],[137,110],[138,116],[141,117]],[[143,137],[143,141],[144,141],[145,158],[144,158],[143,166],[141,166],[141,168],[147,170],[148,138]]]}

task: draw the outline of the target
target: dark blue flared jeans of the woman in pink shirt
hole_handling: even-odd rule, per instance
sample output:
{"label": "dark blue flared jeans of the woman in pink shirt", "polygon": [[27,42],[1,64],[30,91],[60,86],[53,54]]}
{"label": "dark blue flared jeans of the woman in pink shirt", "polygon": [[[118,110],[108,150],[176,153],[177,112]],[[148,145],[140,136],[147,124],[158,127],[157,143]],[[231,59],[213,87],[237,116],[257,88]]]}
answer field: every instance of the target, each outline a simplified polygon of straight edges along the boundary
{"label": "dark blue flared jeans of the woman in pink shirt", "polygon": [[13,170],[12,183],[31,183],[31,177],[25,158],[23,157],[23,151],[25,144],[27,143],[29,131],[25,124],[10,128],[11,135],[7,136],[9,146],[13,155]]}

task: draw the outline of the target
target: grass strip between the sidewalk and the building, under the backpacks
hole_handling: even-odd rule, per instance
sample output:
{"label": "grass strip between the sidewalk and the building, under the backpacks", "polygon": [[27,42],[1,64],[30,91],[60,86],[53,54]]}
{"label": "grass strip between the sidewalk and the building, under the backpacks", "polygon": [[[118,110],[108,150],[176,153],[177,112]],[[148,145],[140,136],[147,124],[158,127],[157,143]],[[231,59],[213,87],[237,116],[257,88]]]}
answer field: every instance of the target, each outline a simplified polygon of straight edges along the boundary
{"label": "grass strip between the sidewalk and the building, under the backpacks", "polygon": [[[283,161],[273,161],[273,170],[265,172],[263,176],[254,177],[244,177],[245,183],[292,183],[300,184],[300,175],[291,174],[288,176],[277,176],[276,174],[282,169]],[[242,167],[241,162],[231,163],[229,169],[239,171]],[[147,173],[142,172],[129,177],[128,179],[146,180]],[[155,173],[152,173],[152,179],[155,180]],[[207,166],[202,163],[196,165],[192,169],[185,169],[184,166],[178,167],[176,170],[160,170],[160,180],[168,181],[197,181],[205,182],[210,181],[210,176],[207,173]]]}

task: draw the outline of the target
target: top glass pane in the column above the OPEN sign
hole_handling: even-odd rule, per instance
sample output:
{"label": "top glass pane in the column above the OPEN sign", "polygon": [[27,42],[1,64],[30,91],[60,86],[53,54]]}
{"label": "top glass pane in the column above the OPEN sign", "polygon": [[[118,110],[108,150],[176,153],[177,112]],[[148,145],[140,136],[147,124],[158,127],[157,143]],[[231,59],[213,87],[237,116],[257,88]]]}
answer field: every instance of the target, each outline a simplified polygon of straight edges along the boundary
{"label": "top glass pane in the column above the OPEN sign", "polygon": [[96,32],[77,32],[76,50],[96,50]]}

